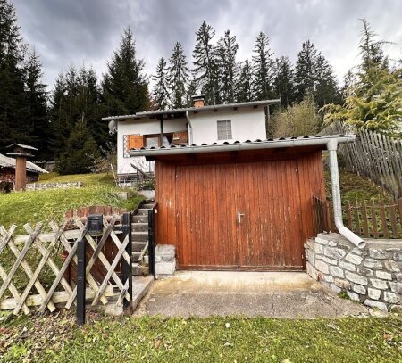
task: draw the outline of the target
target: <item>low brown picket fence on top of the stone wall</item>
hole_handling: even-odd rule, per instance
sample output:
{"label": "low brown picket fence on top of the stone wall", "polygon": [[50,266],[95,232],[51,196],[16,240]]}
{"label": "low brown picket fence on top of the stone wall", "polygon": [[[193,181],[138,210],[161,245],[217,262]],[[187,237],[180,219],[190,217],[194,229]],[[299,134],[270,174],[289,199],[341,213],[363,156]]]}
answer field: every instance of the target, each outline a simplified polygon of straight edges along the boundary
{"label": "low brown picket fence on top of the stone wall", "polygon": [[[313,197],[315,234],[336,231],[331,201]],[[402,198],[391,202],[349,202],[342,205],[345,226],[367,238],[402,238]]]}

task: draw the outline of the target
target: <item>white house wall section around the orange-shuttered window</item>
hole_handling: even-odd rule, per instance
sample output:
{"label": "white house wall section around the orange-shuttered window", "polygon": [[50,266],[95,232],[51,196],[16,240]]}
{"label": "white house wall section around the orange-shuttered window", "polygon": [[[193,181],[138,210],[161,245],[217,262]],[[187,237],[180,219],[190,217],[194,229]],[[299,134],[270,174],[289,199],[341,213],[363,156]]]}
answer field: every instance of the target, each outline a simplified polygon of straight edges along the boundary
{"label": "white house wall section around the orange-shuttered window", "polygon": [[[163,133],[187,130],[187,119],[163,120]],[[144,171],[154,171],[154,161],[146,161],[144,157],[124,157],[124,136],[149,135],[161,132],[160,121],[157,119],[123,120],[117,126],[117,173],[130,174],[136,170],[131,163]]]}

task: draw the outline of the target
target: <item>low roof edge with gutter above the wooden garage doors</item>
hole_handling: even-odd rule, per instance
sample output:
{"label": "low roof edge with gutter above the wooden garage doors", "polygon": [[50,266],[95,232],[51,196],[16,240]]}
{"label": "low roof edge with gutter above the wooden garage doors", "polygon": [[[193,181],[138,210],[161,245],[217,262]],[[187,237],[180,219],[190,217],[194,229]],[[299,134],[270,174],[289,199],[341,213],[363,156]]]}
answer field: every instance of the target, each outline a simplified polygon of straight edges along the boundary
{"label": "low roof edge with gutter above the wooden garage doors", "polygon": [[140,149],[131,149],[130,156],[156,156],[156,155],[172,155],[185,153],[220,153],[231,151],[245,151],[258,149],[279,149],[285,147],[303,147],[318,146],[325,147],[332,139],[336,139],[338,143],[349,143],[355,141],[356,136],[348,135],[329,135],[329,136],[301,136],[301,137],[281,137],[270,138],[266,140],[246,140],[244,142],[234,141],[233,143],[224,142],[223,144],[192,144],[192,145],[170,145],[161,147],[142,147]]}

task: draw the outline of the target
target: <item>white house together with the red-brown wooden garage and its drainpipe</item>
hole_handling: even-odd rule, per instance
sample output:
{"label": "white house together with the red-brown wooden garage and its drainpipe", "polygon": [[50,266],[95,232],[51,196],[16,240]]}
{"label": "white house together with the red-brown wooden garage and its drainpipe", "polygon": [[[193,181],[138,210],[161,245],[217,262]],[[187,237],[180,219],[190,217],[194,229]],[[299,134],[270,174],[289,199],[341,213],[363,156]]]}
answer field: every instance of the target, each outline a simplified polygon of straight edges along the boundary
{"label": "white house together with the red-brown wooden garage and its drainpipe", "polygon": [[276,103],[205,106],[196,97],[186,109],[105,119],[117,120],[118,172],[140,160],[155,171],[155,243],[175,247],[178,268],[305,269],[313,197],[325,198],[325,149],[335,224],[364,244],[339,212],[337,148],[355,136],[266,139],[267,109]]}

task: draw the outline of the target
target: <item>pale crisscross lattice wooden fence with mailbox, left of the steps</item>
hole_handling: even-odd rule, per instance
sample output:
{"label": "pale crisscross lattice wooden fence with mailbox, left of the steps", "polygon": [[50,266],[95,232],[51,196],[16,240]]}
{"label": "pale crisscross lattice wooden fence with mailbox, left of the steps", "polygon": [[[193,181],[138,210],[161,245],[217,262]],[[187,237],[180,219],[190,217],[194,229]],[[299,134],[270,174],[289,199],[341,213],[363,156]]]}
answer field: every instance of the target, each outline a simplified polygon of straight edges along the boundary
{"label": "pale crisscross lattice wooden fence with mailbox, left of the steps", "polygon": [[[128,220],[130,222],[130,213]],[[21,310],[28,314],[35,309],[40,312],[54,311],[56,306],[70,309],[77,301],[77,285],[65,277],[72,262],[78,264],[79,245],[90,251],[85,265],[84,296],[95,306],[98,301],[121,306],[131,300],[131,278],[121,278],[116,267],[123,263],[131,266],[130,224],[118,223],[121,219],[113,215],[111,220],[101,220],[102,233],[91,233],[87,223],[79,216],[66,219],[62,224],[49,223],[50,232],[38,223],[24,225],[27,235],[15,235],[16,226],[6,230],[0,226],[0,309]],[[105,256],[105,242],[115,246],[113,259]],[[61,258],[61,252],[64,256]],[[85,251],[85,250],[84,250]],[[84,259],[85,260],[85,259]],[[105,268],[103,279],[93,276],[95,265]],[[0,280],[0,281],[1,281]]]}

